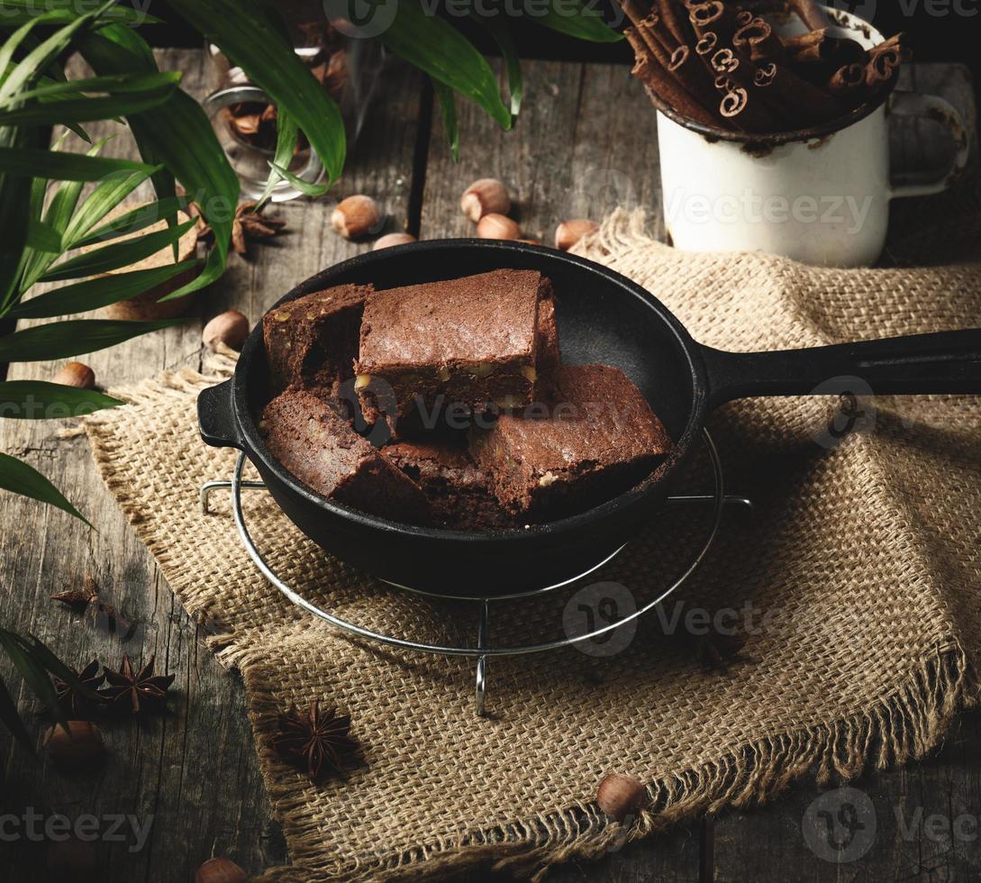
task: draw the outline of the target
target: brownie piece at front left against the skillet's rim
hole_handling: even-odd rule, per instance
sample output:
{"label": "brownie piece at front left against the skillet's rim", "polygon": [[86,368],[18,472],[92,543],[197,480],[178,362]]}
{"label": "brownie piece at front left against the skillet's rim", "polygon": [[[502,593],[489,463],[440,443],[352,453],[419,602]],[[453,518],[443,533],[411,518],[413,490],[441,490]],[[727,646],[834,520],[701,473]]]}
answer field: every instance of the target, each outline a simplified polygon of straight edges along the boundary
{"label": "brownie piece at front left against the skillet's rim", "polygon": [[259,428],[273,456],[317,493],[394,521],[430,522],[422,490],[351,429],[342,402],[290,387],[266,405]]}

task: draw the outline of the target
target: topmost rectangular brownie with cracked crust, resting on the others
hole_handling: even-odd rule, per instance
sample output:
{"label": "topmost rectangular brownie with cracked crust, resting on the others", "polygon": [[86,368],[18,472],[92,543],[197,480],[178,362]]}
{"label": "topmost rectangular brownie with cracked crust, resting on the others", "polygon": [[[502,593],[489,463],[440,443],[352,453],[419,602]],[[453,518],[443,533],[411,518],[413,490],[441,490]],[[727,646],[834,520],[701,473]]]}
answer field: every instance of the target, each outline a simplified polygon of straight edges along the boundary
{"label": "topmost rectangular brownie with cracked crust, resting on the others", "polygon": [[361,323],[356,389],[365,417],[389,425],[441,406],[520,407],[535,394],[539,301],[532,270],[378,291]]}

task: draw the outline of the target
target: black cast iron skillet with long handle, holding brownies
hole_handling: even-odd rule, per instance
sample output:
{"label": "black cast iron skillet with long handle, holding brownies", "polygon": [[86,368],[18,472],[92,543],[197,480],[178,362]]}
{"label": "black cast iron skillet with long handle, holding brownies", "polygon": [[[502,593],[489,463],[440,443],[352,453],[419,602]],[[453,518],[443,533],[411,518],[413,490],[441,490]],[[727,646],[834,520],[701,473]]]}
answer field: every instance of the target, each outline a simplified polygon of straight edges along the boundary
{"label": "black cast iron skillet with long handle, holding brownies", "polygon": [[381,289],[502,267],[539,270],[551,279],[563,360],[621,368],[668,428],[674,448],[639,487],[561,521],[493,533],[412,527],[322,497],[286,472],[256,429],[254,415],[268,398],[259,323],[232,380],[198,398],[202,438],[243,450],[286,515],[338,558],[401,586],[492,597],[575,577],[630,540],[663,502],[697,446],[708,413],[730,399],[808,394],[822,384],[825,394],[842,392],[826,382],[845,376],[860,378],[877,393],[981,392],[981,329],[815,349],[722,352],[693,340],[630,280],[583,258],[523,243],[444,239],[371,251],[319,273],[280,303],[342,283]]}

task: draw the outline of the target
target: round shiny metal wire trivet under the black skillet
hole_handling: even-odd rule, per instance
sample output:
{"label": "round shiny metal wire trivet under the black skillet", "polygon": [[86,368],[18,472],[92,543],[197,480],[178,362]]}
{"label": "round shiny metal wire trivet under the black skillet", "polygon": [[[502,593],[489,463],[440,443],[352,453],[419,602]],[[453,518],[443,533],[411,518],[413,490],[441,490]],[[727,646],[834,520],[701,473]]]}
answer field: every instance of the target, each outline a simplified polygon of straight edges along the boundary
{"label": "round shiny metal wire trivet under the black skillet", "polygon": [[[224,489],[232,491],[232,516],[234,517],[235,527],[238,530],[238,535],[241,539],[242,545],[244,545],[246,552],[252,559],[256,567],[263,576],[272,583],[277,589],[280,590],[290,601],[292,601],[297,606],[302,607],[314,616],[323,619],[325,622],[330,623],[341,631],[347,632],[348,634],[357,635],[361,638],[367,638],[372,641],[378,641],[381,644],[385,644],[389,647],[399,647],[403,649],[418,650],[420,652],[428,653],[438,653],[444,656],[474,656],[477,659],[477,682],[475,689],[475,706],[476,712],[480,716],[486,716],[487,709],[487,665],[489,656],[514,656],[524,653],[537,653],[543,652],[550,649],[559,649],[563,647],[571,647],[573,645],[579,644],[584,641],[590,641],[594,638],[598,638],[600,635],[609,634],[616,629],[626,625],[628,622],[632,622],[635,619],[639,619],[652,610],[657,604],[663,601],[666,597],[672,595],[676,592],[679,587],[681,587],[697,570],[698,566],[704,560],[705,555],[708,553],[708,549],[715,540],[718,534],[719,525],[722,521],[722,510],[727,503],[736,503],[738,505],[752,507],[752,501],[745,496],[734,496],[727,495],[724,489],[724,479],[722,474],[722,463],[719,459],[718,450],[715,447],[715,443],[712,442],[711,436],[707,431],[702,432],[702,442],[705,445],[705,449],[708,452],[709,459],[711,461],[712,472],[715,478],[715,492],[710,494],[685,494],[678,496],[670,496],[667,502],[670,505],[688,505],[688,504],[704,504],[709,503],[712,506],[712,523],[705,537],[704,542],[700,546],[699,550],[695,556],[689,561],[688,566],[678,576],[671,585],[663,589],[657,597],[648,601],[643,607],[635,610],[628,616],[623,617],[617,622],[610,623],[609,625],[603,626],[601,628],[594,629],[592,632],[588,632],[583,635],[576,635],[574,637],[565,637],[556,641],[549,641],[542,644],[524,645],[524,646],[513,646],[513,647],[493,647],[489,644],[489,623],[490,623],[490,601],[510,601],[517,600],[522,597],[532,597],[542,595],[546,592],[551,592],[561,586],[569,586],[575,582],[582,580],[584,577],[589,576],[594,570],[602,566],[606,561],[613,558],[622,548],[617,549],[612,554],[608,555],[603,561],[597,562],[593,567],[591,567],[584,574],[574,579],[566,580],[562,583],[555,584],[553,586],[546,586],[541,589],[537,589],[531,592],[523,593],[520,595],[511,595],[504,597],[471,597],[471,598],[461,598],[461,600],[470,600],[479,602],[481,604],[481,618],[480,624],[477,631],[477,646],[476,647],[441,647],[435,644],[420,644],[415,641],[409,641],[404,638],[394,638],[390,635],[383,635],[379,632],[373,632],[370,629],[366,629],[363,626],[359,626],[356,623],[348,622],[347,620],[341,619],[335,616],[328,610],[324,610],[317,606],[312,601],[307,600],[305,597],[300,595],[290,586],[288,586],[279,575],[273,570],[266,559],[263,557],[262,553],[256,547],[249,534],[248,527],[245,524],[245,517],[242,512],[241,505],[241,492],[242,489],[262,489],[265,485],[262,482],[247,482],[242,479],[242,472],[245,468],[245,454],[241,453],[238,455],[238,460],[235,463],[235,471],[232,475],[232,481],[215,481],[207,482],[201,487],[200,493],[200,505],[201,511],[205,514],[208,513],[208,498],[213,491]],[[394,585],[394,584],[392,584]],[[403,589],[411,589],[412,587],[400,587]],[[427,595],[429,593],[419,590],[412,589],[412,591],[417,592],[421,595]]]}

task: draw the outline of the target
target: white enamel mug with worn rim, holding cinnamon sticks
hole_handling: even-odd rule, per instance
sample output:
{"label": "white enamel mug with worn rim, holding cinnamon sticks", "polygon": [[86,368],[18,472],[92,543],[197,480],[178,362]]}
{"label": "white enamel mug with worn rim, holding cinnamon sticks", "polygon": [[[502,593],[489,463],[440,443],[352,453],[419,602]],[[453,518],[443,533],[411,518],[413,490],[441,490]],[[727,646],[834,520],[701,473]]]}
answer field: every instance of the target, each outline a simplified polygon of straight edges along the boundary
{"label": "white enamel mug with worn rim, holding cinnamon sticks", "polygon": [[[861,19],[826,11],[836,35],[866,48],[882,41]],[[775,29],[805,28],[795,18]],[[890,200],[939,193],[967,164],[963,120],[935,95],[897,90],[871,112],[775,137],[713,130],[659,107],[665,225],[675,247],[688,251],[765,251],[807,264],[870,266],[886,242]],[[927,117],[949,130],[950,167],[931,181],[924,173],[891,174],[892,116]]]}

